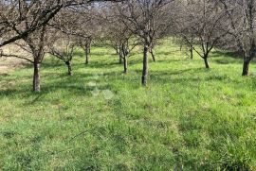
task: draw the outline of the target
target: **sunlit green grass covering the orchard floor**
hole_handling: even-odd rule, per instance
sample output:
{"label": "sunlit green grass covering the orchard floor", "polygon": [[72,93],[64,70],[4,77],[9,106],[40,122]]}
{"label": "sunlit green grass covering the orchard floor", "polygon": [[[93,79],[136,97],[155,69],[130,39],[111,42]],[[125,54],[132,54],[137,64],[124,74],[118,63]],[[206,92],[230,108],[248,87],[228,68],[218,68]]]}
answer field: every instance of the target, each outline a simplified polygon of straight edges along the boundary
{"label": "sunlit green grass covering the orchard floor", "polygon": [[256,77],[242,60],[213,51],[207,70],[165,41],[141,87],[141,53],[126,76],[112,49],[76,56],[73,77],[46,58],[41,94],[29,65],[0,75],[0,170],[256,170]]}

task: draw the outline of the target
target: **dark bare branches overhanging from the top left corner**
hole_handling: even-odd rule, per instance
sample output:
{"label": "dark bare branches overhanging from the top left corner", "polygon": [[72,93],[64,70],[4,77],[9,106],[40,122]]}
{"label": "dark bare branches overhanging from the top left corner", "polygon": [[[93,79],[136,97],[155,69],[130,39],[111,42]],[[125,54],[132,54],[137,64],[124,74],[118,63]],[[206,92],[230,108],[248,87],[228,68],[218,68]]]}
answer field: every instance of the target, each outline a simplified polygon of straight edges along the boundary
{"label": "dark bare branches overhanging from the top left corner", "polygon": [[119,0],[0,0],[0,47],[45,26],[61,9]]}

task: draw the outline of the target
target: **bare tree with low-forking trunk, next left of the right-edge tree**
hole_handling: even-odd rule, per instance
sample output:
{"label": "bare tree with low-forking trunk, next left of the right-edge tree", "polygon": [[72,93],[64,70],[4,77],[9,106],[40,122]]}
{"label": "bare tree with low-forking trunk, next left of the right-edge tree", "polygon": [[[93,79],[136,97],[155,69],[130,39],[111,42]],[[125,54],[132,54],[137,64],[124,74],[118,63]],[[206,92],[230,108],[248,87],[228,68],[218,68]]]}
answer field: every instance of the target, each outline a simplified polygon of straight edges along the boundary
{"label": "bare tree with low-forking trunk, next left of the right-edge tree", "polygon": [[191,57],[194,50],[209,69],[210,51],[228,34],[228,31],[224,31],[226,13],[215,1],[182,1],[178,5],[176,20],[178,32],[189,44]]}

